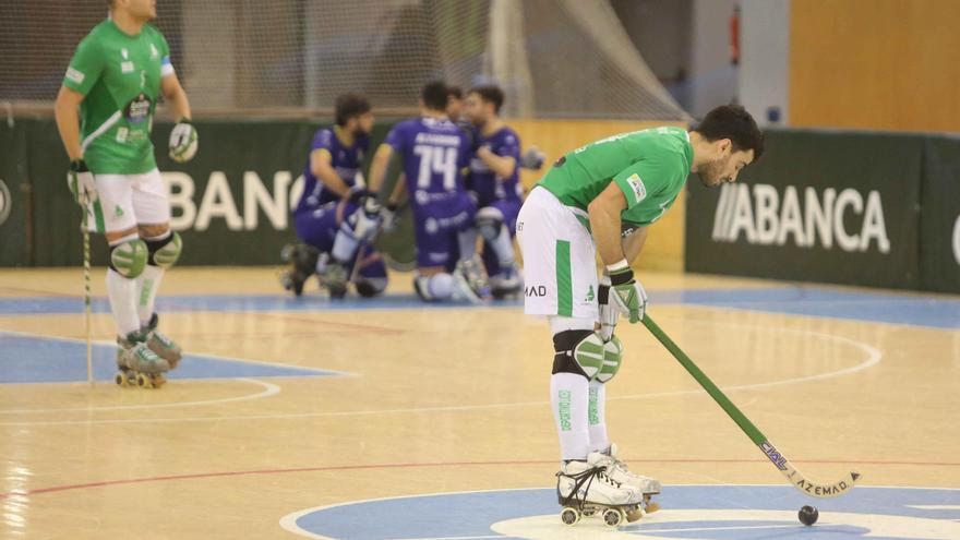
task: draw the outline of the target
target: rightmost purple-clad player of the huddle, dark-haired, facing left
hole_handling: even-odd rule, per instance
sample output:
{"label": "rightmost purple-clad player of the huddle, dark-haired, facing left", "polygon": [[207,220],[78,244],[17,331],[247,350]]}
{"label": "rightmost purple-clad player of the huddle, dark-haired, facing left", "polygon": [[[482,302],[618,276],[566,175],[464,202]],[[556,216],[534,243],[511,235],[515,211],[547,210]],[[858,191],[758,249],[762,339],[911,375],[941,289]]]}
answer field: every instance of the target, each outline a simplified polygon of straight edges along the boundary
{"label": "rightmost purple-clad player of the huddle, dark-haired, facing left", "polygon": [[497,298],[523,289],[513,244],[523,203],[520,137],[501,120],[502,106],[503,91],[496,86],[478,86],[467,94],[466,113],[476,127],[477,148],[468,184],[477,196],[476,224],[484,240],[483,263]]}

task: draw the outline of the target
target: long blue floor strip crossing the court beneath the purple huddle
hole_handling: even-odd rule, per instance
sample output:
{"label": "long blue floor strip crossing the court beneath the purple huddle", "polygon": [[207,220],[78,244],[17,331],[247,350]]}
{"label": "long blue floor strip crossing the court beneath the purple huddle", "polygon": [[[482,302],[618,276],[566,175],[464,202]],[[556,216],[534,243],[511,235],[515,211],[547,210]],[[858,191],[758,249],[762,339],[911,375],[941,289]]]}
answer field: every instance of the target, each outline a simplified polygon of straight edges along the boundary
{"label": "long blue floor strip crossing the court beneath the purple huddle", "polygon": [[[764,289],[699,289],[653,291],[652,305],[704,305],[764,313],[781,313],[844,319],[933,328],[960,328],[960,297],[905,296],[889,292],[848,292],[815,287],[777,287]],[[519,309],[519,300],[496,301],[484,307]],[[435,310],[469,308],[466,302],[421,302],[415,295],[386,295],[373,299],[331,300],[321,296],[292,298],[284,295],[166,296],[157,299],[160,312],[323,312],[356,310]],[[93,301],[95,313],[108,313],[106,299]],[[0,300],[0,315],[79,314],[83,302],[77,298],[35,297]]]}

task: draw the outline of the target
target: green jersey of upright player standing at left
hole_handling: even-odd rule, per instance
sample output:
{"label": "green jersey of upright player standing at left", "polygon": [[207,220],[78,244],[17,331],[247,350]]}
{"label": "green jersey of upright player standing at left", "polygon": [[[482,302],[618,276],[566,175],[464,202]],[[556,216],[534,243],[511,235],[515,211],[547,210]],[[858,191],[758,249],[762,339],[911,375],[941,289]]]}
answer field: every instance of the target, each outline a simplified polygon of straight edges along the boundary
{"label": "green jersey of upright player standing at left", "polygon": [[160,79],[173,73],[170,48],[146,24],[136,36],[104,21],[80,43],[63,85],[83,94],[84,160],[99,175],[136,175],[156,168],[149,139]]}

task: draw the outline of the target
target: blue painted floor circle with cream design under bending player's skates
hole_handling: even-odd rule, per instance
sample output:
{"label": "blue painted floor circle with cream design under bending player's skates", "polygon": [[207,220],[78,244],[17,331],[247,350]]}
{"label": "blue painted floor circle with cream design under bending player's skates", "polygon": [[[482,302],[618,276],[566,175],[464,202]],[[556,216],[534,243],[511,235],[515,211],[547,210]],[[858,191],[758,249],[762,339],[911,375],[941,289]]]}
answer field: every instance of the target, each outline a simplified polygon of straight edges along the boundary
{"label": "blue painted floor circle with cream design under bending player's skates", "polygon": [[[552,489],[347,503],[291,514],[287,525],[309,538],[341,540],[960,539],[960,490],[859,487],[838,499],[814,500],[789,485],[680,485],[664,488],[657,500],[660,512],[616,530],[597,518],[564,526]],[[796,518],[805,504],[819,509],[813,527]]]}

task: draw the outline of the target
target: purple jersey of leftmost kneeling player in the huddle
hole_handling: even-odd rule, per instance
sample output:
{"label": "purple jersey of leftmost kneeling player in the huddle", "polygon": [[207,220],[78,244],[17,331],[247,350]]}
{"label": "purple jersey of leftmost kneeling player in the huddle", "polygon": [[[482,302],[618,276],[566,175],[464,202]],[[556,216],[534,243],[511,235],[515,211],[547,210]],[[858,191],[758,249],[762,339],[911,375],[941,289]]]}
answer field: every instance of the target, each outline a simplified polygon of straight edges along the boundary
{"label": "purple jersey of leftmost kneeling player in the huddle", "polygon": [[[333,128],[323,128],[313,135],[313,142],[310,144],[310,154],[319,149],[329,152],[331,166],[337,171],[337,176],[347,182],[347,185],[352,188],[369,145],[370,141],[365,135],[353,135],[353,145],[345,146],[340,139],[337,137]],[[307,167],[303,169],[303,194],[300,196],[300,202],[297,204],[297,209],[293,213],[309,212],[337,200],[339,200],[339,196],[313,176],[313,171],[310,170],[310,158],[308,157]]]}

